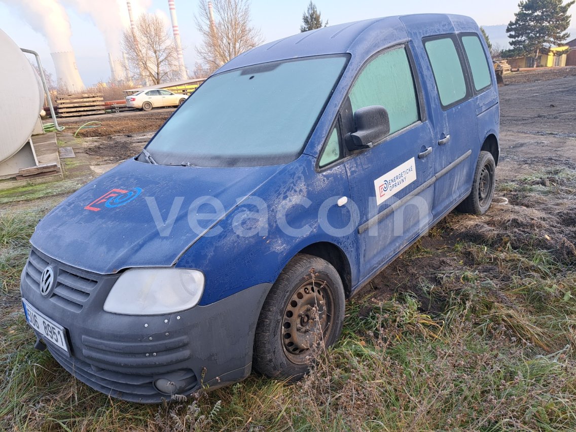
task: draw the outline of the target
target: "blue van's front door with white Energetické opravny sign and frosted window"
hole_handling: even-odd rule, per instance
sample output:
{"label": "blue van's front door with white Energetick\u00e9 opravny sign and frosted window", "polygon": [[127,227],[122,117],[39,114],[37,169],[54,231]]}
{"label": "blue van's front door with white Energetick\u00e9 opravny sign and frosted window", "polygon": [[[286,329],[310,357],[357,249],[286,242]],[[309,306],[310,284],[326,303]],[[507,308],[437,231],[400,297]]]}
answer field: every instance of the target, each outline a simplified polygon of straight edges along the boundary
{"label": "blue van's front door with white Energetick\u00e9 opravny sign and frosted window", "polygon": [[370,105],[388,111],[390,134],[345,163],[359,210],[361,277],[391,260],[431,222],[433,136],[416,92],[405,46],[386,50],[363,68],[340,113],[342,137],[354,132],[353,113]]}

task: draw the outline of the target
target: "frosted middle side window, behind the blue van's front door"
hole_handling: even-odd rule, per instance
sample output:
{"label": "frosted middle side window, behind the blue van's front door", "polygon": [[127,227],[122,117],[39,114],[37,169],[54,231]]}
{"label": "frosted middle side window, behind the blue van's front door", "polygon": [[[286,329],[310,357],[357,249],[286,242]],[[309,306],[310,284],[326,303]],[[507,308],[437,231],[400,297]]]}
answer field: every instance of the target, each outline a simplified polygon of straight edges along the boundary
{"label": "frosted middle side window, behind the blue van's front door", "polygon": [[454,41],[450,37],[442,37],[427,40],[424,46],[442,106],[449,107],[463,100],[466,97],[466,81]]}

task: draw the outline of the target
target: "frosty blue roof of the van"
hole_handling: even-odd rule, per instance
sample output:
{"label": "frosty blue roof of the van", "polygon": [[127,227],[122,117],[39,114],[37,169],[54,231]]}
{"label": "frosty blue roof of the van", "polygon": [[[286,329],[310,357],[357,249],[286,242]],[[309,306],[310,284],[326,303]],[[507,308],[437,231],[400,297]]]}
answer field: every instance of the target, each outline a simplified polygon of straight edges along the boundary
{"label": "frosty blue roof of the van", "polygon": [[408,40],[410,36],[424,37],[454,32],[478,32],[478,25],[472,18],[452,14],[415,14],[347,22],[298,33],[253,48],[230,60],[218,72],[322,54],[348,52],[353,56],[368,58],[386,46]]}

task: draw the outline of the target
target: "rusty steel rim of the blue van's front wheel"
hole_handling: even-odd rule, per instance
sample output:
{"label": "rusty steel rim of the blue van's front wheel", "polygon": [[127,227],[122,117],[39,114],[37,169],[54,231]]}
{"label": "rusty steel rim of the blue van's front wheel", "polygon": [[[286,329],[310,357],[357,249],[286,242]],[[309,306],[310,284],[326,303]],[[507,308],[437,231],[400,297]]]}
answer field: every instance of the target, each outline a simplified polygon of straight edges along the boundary
{"label": "rusty steel rim of the blue van's front wheel", "polygon": [[291,362],[304,365],[310,347],[328,338],[334,327],[334,309],[334,295],[324,279],[310,279],[294,290],[281,327],[282,348]]}

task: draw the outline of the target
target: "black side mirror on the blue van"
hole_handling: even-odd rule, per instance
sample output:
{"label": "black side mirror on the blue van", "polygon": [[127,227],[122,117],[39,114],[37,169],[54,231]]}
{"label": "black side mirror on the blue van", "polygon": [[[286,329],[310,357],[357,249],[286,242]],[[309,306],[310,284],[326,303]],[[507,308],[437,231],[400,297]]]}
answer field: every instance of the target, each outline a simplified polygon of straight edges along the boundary
{"label": "black side mirror on the blue van", "polygon": [[346,135],[348,150],[362,150],[382,141],[390,133],[388,111],[380,105],[370,105],[354,112],[356,132]]}

